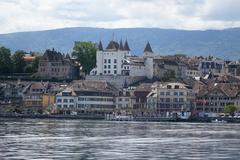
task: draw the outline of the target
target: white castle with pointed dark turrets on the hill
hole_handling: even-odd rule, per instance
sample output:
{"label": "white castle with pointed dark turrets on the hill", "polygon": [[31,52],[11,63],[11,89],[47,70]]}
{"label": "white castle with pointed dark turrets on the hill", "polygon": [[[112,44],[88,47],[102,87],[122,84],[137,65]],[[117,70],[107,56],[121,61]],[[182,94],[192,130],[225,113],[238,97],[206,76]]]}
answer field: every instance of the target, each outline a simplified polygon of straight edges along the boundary
{"label": "white castle with pointed dark turrets on the hill", "polygon": [[147,43],[142,57],[131,56],[128,42],[123,45],[115,41],[110,41],[106,49],[99,43],[96,68],[90,75],[94,76],[132,76],[153,78],[153,58],[152,48]]}

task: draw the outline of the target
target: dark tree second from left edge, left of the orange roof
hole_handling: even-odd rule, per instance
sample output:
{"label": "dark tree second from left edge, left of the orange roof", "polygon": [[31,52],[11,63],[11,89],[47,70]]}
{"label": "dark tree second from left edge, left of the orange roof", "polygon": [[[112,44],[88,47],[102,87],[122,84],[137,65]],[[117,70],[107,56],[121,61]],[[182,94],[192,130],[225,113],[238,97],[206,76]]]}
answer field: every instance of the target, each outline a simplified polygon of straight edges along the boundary
{"label": "dark tree second from left edge, left of the orange roof", "polygon": [[23,73],[24,68],[26,66],[26,62],[24,61],[24,56],[27,54],[22,50],[18,50],[12,56],[13,68],[15,73]]}

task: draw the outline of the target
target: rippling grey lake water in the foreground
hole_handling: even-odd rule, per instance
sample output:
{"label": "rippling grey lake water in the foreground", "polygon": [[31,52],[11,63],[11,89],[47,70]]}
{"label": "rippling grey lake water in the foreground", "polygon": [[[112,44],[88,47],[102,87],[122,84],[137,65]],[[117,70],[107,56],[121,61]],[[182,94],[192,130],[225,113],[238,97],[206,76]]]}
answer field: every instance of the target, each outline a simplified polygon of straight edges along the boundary
{"label": "rippling grey lake water in the foreground", "polygon": [[240,159],[240,125],[0,119],[0,159]]}

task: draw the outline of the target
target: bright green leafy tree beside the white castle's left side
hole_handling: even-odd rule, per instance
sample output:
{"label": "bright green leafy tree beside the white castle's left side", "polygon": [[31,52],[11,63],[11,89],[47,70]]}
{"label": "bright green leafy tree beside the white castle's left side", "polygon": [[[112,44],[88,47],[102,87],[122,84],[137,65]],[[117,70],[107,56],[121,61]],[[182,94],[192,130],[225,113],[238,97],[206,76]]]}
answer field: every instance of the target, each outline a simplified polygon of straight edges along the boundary
{"label": "bright green leafy tree beside the white castle's left side", "polygon": [[75,42],[74,44],[72,56],[77,57],[86,74],[96,65],[96,51],[96,44],[92,42]]}

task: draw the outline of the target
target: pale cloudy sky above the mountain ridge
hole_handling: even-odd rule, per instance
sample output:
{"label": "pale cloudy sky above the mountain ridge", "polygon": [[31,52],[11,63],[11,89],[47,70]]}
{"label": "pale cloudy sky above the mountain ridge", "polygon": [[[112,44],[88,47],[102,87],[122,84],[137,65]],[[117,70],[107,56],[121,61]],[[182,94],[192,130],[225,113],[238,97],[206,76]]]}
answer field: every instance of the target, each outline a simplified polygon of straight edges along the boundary
{"label": "pale cloudy sky above the mountain ridge", "polygon": [[240,0],[0,0],[0,33],[65,27],[240,27]]}

